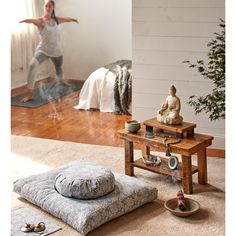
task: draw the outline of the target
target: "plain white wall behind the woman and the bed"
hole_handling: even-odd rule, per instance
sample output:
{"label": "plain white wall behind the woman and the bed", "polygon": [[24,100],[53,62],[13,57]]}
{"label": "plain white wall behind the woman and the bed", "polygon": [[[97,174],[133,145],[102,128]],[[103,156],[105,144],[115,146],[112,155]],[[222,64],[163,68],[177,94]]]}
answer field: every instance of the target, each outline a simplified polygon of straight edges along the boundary
{"label": "plain white wall behind the woman and the bed", "polygon": [[[37,2],[43,14],[43,0]],[[65,79],[85,80],[100,66],[132,58],[131,0],[56,0],[56,15],[79,19],[61,27]],[[40,16],[39,15],[39,16]],[[26,84],[27,71],[12,73],[12,88]],[[55,76],[50,61],[38,79]]]}

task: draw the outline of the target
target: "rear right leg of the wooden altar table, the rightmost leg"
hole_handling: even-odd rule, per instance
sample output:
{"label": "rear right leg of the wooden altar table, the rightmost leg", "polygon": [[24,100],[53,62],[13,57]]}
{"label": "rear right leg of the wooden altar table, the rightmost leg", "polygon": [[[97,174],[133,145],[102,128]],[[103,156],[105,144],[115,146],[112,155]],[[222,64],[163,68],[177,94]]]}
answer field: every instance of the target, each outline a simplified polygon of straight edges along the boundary
{"label": "rear right leg of the wooden altar table, the rightmost leg", "polygon": [[197,165],[198,165],[198,183],[199,184],[207,184],[206,148],[197,152]]}

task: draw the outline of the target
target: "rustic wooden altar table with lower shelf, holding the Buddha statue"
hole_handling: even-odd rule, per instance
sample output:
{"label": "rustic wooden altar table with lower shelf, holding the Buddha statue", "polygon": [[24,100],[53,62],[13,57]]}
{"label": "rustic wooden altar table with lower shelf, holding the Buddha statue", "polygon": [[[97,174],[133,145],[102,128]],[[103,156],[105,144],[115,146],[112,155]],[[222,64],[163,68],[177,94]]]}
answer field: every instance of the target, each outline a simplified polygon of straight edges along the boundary
{"label": "rustic wooden altar table with lower shelf, holding the Buddha statue", "polygon": [[[150,148],[157,148],[158,151],[166,151],[163,138],[155,136],[154,138],[145,137],[145,129],[139,130],[137,133],[130,133],[125,129],[118,130],[117,135],[124,139],[125,148],[125,174],[133,176],[134,167],[142,168],[159,174],[174,176],[178,171],[182,179],[183,191],[187,194],[193,193],[192,175],[198,173],[198,183],[207,184],[207,156],[206,148],[212,144],[213,137],[204,134],[193,134],[191,137],[181,139],[181,142],[170,144],[171,153],[181,154],[182,162],[179,163],[177,170],[168,168],[168,159],[162,159],[161,166],[151,166],[143,162],[142,158],[134,160],[134,143],[138,143],[142,147],[142,155],[150,154]],[[197,166],[192,165],[192,155],[197,154]]]}

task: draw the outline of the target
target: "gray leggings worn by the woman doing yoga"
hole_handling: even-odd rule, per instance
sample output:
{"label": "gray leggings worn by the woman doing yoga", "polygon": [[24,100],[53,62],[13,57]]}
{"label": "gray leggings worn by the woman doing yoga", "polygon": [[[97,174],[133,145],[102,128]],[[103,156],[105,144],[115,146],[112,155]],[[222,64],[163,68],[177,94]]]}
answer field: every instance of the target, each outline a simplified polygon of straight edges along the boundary
{"label": "gray leggings worn by the woman doing yoga", "polygon": [[56,69],[56,78],[57,80],[63,80],[63,72],[62,72],[62,61],[63,58],[62,56],[60,57],[49,57],[45,55],[42,52],[36,52],[34,57],[31,60],[30,66],[29,66],[29,71],[27,75],[27,87],[28,89],[33,90],[34,89],[34,84],[35,84],[35,73],[38,65],[40,65],[42,62],[46,61],[47,59],[51,59],[55,69]]}

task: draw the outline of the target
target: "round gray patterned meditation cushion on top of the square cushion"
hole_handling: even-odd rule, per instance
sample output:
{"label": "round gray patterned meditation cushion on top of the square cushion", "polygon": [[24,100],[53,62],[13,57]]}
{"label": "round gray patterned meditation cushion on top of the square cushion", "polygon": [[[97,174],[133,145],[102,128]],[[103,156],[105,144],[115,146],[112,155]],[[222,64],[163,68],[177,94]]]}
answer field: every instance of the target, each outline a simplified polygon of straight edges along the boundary
{"label": "round gray patterned meditation cushion on top of the square cushion", "polygon": [[55,178],[55,189],[65,197],[94,199],[115,187],[113,173],[91,163],[81,163],[62,170]]}

